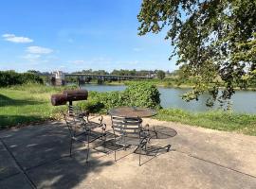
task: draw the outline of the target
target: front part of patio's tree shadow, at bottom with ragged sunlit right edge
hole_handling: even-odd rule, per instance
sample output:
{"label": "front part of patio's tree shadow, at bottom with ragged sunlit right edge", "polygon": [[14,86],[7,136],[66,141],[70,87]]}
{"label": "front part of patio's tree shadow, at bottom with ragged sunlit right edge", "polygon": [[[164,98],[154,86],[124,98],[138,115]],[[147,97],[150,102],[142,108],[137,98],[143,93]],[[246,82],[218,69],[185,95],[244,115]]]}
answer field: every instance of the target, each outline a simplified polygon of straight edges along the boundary
{"label": "front part of patio's tree shadow, at bottom with ragged sunlit right edge", "polygon": [[53,163],[47,163],[27,171],[29,178],[37,188],[73,188],[85,180],[89,173],[101,172],[104,166],[113,162],[92,159],[85,163],[86,152],[77,151],[73,156]]}

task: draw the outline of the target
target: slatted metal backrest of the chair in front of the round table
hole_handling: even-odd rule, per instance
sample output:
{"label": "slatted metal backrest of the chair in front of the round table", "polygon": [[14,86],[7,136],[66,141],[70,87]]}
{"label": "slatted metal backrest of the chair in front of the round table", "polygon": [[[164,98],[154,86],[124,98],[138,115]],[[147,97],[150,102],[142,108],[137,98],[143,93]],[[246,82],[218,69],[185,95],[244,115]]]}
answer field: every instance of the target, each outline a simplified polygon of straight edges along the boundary
{"label": "slatted metal backrest of the chair in front of the round table", "polygon": [[111,116],[114,134],[122,136],[139,137],[142,119],[138,117]]}

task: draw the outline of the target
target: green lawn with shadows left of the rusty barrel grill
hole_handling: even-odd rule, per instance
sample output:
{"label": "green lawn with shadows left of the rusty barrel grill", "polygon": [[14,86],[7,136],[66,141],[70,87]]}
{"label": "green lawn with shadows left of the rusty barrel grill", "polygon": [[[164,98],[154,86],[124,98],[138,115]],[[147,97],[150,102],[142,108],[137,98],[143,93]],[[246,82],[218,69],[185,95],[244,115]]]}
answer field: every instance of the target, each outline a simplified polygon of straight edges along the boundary
{"label": "green lawn with shadows left of the rusty barrel grill", "polygon": [[64,89],[37,84],[0,88],[0,129],[58,118],[62,107],[51,106],[50,95]]}

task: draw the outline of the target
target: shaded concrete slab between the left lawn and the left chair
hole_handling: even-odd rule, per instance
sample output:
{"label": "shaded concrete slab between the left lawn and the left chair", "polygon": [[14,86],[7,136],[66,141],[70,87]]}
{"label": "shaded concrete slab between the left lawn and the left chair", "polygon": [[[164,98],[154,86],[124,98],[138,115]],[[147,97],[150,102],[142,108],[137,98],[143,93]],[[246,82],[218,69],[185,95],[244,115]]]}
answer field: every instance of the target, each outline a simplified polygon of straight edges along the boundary
{"label": "shaded concrete slab between the left lawn and the left chair", "polygon": [[9,129],[0,134],[24,170],[51,162],[69,153],[68,130],[62,124]]}

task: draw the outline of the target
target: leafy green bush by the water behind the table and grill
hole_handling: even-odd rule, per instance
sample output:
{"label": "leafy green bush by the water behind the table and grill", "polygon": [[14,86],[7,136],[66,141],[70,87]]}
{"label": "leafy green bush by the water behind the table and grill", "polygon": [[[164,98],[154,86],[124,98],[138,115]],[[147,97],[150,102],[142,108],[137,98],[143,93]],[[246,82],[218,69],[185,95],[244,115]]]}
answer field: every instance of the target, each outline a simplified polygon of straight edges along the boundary
{"label": "leafy green bush by the water behind the table and grill", "polygon": [[160,94],[157,88],[148,83],[130,84],[123,92],[90,92],[88,100],[79,102],[78,106],[88,112],[107,112],[121,106],[161,108]]}

